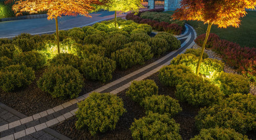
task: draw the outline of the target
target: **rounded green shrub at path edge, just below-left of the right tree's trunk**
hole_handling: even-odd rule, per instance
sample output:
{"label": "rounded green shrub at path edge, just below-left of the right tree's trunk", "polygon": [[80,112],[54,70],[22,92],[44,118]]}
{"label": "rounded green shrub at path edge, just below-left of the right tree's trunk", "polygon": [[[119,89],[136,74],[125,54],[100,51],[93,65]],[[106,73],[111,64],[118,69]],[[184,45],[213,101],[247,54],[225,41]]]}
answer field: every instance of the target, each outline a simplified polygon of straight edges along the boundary
{"label": "rounded green shrub at path edge, just below-left of the right tree's trunk", "polygon": [[182,77],[193,71],[184,65],[164,66],[159,70],[159,80],[164,86],[175,87],[182,81]]}

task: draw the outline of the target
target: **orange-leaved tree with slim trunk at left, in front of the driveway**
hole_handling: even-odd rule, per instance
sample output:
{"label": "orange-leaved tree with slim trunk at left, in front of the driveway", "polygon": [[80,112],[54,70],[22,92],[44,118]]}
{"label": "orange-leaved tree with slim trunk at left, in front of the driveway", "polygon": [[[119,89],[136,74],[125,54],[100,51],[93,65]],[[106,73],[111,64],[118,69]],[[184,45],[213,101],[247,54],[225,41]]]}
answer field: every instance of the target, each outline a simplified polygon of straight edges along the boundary
{"label": "orange-leaved tree with slim trunk at left, in front of the driveway", "polygon": [[[11,0],[9,0],[11,1]],[[104,1],[98,0],[20,0],[16,2],[12,9],[16,13],[16,16],[21,15],[22,12],[29,12],[30,14],[40,11],[47,11],[47,19],[55,19],[56,22],[56,40],[58,53],[59,49],[59,34],[58,34],[58,17],[62,15],[88,16],[89,12],[94,10],[94,5],[103,5]]]}

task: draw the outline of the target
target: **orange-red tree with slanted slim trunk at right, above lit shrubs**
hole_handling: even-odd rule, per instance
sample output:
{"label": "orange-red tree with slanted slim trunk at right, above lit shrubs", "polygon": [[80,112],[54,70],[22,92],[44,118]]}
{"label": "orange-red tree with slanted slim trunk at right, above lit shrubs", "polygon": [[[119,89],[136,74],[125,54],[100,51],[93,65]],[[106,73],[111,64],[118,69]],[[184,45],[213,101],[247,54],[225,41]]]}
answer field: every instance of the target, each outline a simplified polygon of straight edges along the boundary
{"label": "orange-red tree with slanted slim trunk at right, above lit shrubs", "polygon": [[256,0],[182,0],[181,8],[172,15],[179,20],[198,20],[208,24],[206,36],[201,49],[196,73],[199,73],[205,44],[210,34],[211,25],[220,28],[239,27],[245,9],[254,9]]}

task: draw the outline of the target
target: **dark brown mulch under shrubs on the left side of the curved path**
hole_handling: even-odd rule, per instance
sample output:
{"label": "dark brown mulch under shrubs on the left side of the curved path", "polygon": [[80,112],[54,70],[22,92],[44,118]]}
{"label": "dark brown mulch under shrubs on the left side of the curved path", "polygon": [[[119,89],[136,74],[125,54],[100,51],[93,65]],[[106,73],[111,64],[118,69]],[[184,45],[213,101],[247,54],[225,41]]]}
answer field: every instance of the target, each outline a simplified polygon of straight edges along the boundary
{"label": "dark brown mulch under shrubs on the left side of the curved path", "polygon": [[[163,57],[166,55],[161,55]],[[127,70],[119,70],[116,69],[113,72],[113,78],[111,81],[114,81],[116,79],[119,79],[129,73],[132,73],[148,64],[151,64],[155,61],[157,61],[159,58],[154,57],[151,60],[148,60],[145,62],[144,65],[136,65],[132,68],[129,68]],[[44,73],[45,69],[41,69],[35,72],[36,79],[32,82],[31,85],[24,89],[19,89],[14,92],[3,92],[0,89],[0,102],[14,108],[15,110],[19,111],[20,113],[23,113],[27,116],[31,116],[37,113],[40,113],[41,111],[50,109],[52,107],[55,107],[57,105],[60,105],[62,103],[65,103],[66,101],[69,101],[70,99],[62,100],[58,98],[52,98],[50,94],[46,92],[42,92],[38,87],[36,81],[39,79],[39,77]],[[109,81],[109,82],[111,82]],[[108,82],[108,83],[109,83]],[[98,89],[102,86],[104,86],[106,83],[102,83],[99,81],[90,81],[90,80],[84,80],[84,87],[79,95],[86,94],[88,92],[91,92],[95,89]]]}

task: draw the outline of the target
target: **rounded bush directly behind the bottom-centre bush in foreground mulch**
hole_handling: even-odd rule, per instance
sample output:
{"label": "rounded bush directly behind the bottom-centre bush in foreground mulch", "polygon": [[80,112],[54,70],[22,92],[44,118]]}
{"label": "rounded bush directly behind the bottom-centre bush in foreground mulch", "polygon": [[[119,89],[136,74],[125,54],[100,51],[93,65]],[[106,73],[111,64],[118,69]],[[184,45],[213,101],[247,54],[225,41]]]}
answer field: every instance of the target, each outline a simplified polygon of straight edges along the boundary
{"label": "rounded bush directly behind the bottom-centre bush in foreground mulch", "polygon": [[152,95],[142,100],[142,106],[148,111],[158,114],[167,114],[170,117],[182,111],[178,100],[164,95]]}

